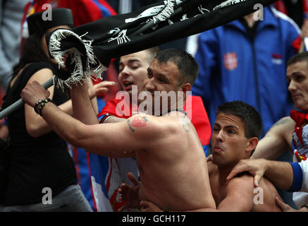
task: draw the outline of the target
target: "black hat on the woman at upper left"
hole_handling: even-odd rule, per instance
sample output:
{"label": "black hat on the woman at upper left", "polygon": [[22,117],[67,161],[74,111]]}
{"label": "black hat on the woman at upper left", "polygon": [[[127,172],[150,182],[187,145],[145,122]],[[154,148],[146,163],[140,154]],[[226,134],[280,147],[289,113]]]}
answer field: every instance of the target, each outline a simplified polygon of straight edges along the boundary
{"label": "black hat on the woman at upper left", "polygon": [[44,18],[48,16],[47,11],[33,13],[27,17],[29,35],[33,35],[37,32],[42,32],[59,25],[69,25],[70,28],[73,28],[73,14],[69,8],[54,8],[50,12],[51,20]]}

